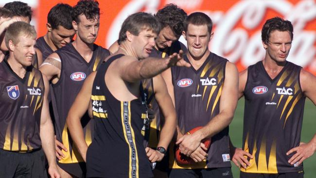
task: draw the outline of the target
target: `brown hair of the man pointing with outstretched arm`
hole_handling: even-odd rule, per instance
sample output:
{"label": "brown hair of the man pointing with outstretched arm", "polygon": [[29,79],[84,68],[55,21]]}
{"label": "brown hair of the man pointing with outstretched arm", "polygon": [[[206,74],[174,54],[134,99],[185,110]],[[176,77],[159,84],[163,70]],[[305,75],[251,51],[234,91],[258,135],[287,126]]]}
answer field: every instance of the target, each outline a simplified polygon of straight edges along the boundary
{"label": "brown hair of the man pointing with outstretched arm", "polygon": [[138,36],[140,32],[145,29],[152,30],[158,35],[160,32],[160,23],[157,18],[145,12],[138,12],[128,16],[122,24],[118,43],[121,44],[121,42],[127,38],[127,31],[134,36]]}

